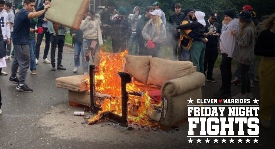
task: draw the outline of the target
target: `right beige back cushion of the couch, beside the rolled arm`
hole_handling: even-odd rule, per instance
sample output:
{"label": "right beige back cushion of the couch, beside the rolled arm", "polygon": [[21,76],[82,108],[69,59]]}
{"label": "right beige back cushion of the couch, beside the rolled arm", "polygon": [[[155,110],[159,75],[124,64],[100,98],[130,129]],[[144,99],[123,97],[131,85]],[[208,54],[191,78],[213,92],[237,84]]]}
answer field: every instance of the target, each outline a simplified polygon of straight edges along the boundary
{"label": "right beige back cushion of the couch, beside the rolled arm", "polygon": [[171,61],[158,57],[150,59],[147,85],[161,87],[165,81],[190,75],[193,63],[190,61]]}

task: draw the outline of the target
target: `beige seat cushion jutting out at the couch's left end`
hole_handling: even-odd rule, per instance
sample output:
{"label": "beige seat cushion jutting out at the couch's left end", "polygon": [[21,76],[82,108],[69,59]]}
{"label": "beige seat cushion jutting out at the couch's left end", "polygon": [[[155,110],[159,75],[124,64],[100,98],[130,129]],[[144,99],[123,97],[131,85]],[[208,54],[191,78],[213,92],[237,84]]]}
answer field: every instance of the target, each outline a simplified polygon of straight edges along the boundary
{"label": "beige seat cushion jutting out at the couch's left end", "polygon": [[82,82],[87,78],[86,75],[72,75],[55,79],[58,88],[65,88],[75,92],[86,91],[86,83]]}

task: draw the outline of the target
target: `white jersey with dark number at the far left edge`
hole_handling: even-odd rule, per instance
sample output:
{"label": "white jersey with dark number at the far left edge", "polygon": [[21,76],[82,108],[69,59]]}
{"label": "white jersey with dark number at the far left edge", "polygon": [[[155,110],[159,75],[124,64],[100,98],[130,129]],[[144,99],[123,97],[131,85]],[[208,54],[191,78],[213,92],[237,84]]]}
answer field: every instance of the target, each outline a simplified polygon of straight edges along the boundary
{"label": "white jersey with dark number at the far left edge", "polygon": [[11,38],[11,33],[10,33],[10,28],[9,28],[9,15],[8,13],[3,9],[2,12],[0,12],[0,17],[4,18],[3,19],[3,23],[1,25],[1,29],[2,29],[2,35],[3,35],[3,39],[7,40],[8,38]]}

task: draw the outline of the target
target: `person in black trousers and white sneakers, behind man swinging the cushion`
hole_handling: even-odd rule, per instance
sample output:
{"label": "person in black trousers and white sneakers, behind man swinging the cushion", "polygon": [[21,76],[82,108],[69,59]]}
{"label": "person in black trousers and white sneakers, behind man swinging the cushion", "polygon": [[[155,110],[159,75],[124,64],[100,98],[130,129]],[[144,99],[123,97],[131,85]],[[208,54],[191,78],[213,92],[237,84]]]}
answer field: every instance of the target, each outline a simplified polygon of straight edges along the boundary
{"label": "person in black trousers and white sneakers, behind man swinging the cushion", "polygon": [[[44,5],[40,6],[36,11],[44,10],[45,5],[50,4],[51,0],[45,0]],[[45,14],[38,17],[37,27],[43,27],[43,33],[37,35],[37,43],[35,45],[35,57],[36,64],[38,64],[40,45],[45,34],[45,49],[43,55],[43,63],[50,64],[50,61],[47,59],[49,50],[50,50],[50,32],[48,32],[48,23],[45,18]]]}

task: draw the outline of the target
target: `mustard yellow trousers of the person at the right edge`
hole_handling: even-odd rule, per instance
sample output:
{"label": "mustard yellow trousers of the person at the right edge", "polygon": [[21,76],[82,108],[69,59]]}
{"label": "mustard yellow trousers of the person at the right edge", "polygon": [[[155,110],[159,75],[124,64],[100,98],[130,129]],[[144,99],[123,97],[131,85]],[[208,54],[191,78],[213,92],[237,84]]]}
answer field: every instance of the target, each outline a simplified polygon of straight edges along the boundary
{"label": "mustard yellow trousers of the person at the right edge", "polygon": [[270,121],[275,105],[275,60],[262,58],[259,66],[260,120]]}

